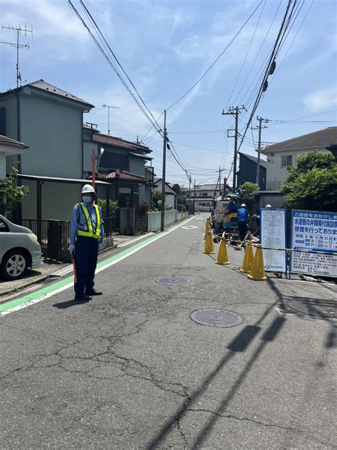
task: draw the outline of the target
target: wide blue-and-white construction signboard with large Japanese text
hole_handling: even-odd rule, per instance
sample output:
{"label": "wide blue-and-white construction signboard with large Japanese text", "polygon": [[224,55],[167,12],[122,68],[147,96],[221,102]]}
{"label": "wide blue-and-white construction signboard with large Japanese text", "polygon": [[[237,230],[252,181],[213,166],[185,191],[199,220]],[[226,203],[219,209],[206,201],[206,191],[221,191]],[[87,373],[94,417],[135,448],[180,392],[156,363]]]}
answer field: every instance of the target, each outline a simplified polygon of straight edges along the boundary
{"label": "wide blue-and-white construction signboard with large Japanese text", "polygon": [[337,213],[292,210],[291,248],[291,272],[337,277]]}

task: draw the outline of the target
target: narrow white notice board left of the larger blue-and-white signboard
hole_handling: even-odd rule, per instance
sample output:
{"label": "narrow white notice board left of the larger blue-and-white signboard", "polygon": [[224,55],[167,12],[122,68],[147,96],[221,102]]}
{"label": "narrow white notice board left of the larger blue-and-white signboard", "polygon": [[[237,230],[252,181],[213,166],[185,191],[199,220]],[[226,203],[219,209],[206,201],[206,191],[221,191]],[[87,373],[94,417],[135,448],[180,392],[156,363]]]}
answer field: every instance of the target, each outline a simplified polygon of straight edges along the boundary
{"label": "narrow white notice board left of the larger blue-and-white signboard", "polygon": [[286,248],[286,210],[260,210],[260,241],[263,247],[264,271],[285,272],[286,251],[268,248]]}

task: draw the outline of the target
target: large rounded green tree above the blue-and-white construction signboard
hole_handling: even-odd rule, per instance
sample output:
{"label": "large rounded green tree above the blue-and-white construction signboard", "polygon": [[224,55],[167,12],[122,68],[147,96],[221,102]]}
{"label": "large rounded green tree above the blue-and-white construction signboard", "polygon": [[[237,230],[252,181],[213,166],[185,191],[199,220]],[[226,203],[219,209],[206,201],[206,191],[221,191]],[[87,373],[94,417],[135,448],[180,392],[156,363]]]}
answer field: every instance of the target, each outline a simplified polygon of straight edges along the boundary
{"label": "large rounded green tree above the blue-and-white construction signboard", "polygon": [[337,211],[337,162],[331,152],[306,152],[288,167],[281,193],[289,209]]}

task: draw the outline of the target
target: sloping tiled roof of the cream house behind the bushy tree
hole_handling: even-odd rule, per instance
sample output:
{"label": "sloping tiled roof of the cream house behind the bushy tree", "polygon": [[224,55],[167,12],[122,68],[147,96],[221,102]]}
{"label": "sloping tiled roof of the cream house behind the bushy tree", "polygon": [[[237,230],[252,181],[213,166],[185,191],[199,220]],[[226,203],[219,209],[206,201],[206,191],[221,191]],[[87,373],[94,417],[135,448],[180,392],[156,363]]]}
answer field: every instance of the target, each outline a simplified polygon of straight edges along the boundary
{"label": "sloping tiled roof of the cream house behind the bushy tree", "polygon": [[337,145],[337,127],[328,127],[308,135],[293,137],[264,147],[264,153],[281,152],[282,150],[323,150],[330,145]]}

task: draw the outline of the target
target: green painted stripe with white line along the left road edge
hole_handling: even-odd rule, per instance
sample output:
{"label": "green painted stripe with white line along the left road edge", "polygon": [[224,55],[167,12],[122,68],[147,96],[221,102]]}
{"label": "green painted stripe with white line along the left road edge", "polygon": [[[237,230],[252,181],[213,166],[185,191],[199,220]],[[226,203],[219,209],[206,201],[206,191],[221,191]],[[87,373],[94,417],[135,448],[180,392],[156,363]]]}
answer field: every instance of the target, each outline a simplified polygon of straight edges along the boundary
{"label": "green painted stripe with white line along the left road edge", "polygon": [[[121,253],[118,253],[117,255],[111,256],[111,258],[107,258],[104,261],[101,261],[97,264],[97,269],[104,268],[105,266],[108,266],[109,263],[112,263],[113,261],[116,261],[119,258],[123,258],[127,256],[129,253],[132,253],[133,251],[137,250],[137,248],[144,246],[145,244],[149,244],[151,241],[154,241],[156,239],[159,239],[161,236],[165,236],[171,231],[174,231],[175,229],[178,229],[180,226],[182,226],[187,221],[190,221],[194,219],[193,217],[190,217],[188,219],[184,219],[183,221],[179,222],[179,224],[171,226],[168,230],[164,231],[164,233],[161,233],[160,235],[154,234],[154,236],[151,236],[148,239],[145,239],[145,241],[141,241],[138,244],[134,244],[134,246],[131,246],[130,248],[127,248],[126,250],[122,251]],[[27,295],[24,295],[21,298],[16,298],[14,300],[9,300],[8,302],[1,303],[0,305],[0,313],[4,313],[5,311],[16,308],[17,306],[21,306],[24,303],[32,302],[33,300],[37,300],[38,298],[43,297],[43,295],[50,294],[53,291],[57,291],[60,288],[63,288],[67,284],[73,284],[74,277],[69,276],[68,278],[65,278],[64,280],[57,281],[56,283],[51,284],[50,286],[46,286],[42,289],[39,289],[38,291],[35,291],[33,293],[29,293]]]}

